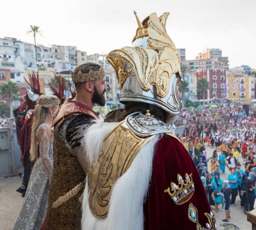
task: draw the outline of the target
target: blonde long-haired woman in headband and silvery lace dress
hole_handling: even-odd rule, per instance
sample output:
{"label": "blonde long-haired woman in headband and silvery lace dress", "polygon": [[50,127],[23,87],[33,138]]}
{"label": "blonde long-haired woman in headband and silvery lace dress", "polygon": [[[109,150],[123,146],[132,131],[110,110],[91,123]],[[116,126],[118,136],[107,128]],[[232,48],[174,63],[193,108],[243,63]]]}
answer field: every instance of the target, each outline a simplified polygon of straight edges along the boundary
{"label": "blonde long-haired woman in headband and silvery lace dress", "polygon": [[44,95],[39,98],[35,107],[30,147],[30,159],[35,161],[35,164],[14,230],[41,229],[44,222],[53,165],[51,121],[59,103],[58,97]]}

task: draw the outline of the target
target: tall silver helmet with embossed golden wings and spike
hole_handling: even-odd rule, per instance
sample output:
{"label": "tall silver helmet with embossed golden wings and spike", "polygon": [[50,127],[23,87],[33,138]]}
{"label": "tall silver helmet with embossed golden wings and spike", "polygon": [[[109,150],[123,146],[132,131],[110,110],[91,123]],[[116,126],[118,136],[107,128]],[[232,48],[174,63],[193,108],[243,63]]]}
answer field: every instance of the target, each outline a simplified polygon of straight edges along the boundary
{"label": "tall silver helmet with embossed golden wings and spike", "polygon": [[145,102],[170,114],[180,112],[175,93],[181,79],[180,57],[166,31],[169,13],[150,14],[140,22],[132,46],[111,51],[107,60],[116,71],[120,102]]}

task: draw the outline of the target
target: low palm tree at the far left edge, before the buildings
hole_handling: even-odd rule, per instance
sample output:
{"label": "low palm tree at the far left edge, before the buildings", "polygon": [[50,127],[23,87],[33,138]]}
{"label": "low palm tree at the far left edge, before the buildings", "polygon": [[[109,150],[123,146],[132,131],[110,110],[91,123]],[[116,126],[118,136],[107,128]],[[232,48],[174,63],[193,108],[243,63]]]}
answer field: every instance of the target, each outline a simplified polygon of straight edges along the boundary
{"label": "low palm tree at the far left edge, before the buildings", "polygon": [[10,117],[13,117],[13,95],[18,94],[19,87],[15,82],[3,82],[0,86],[0,95],[2,98],[7,97],[10,100]]}

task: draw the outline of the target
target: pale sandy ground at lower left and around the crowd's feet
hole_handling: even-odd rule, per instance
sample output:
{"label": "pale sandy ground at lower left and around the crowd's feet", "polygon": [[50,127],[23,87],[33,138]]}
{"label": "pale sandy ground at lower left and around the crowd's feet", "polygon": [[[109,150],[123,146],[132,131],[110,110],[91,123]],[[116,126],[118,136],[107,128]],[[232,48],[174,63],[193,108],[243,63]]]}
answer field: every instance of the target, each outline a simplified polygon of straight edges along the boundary
{"label": "pale sandy ground at lower left and around the crowd's feet", "polygon": [[[207,157],[212,156],[212,152],[214,149],[208,147],[206,144]],[[243,168],[243,161],[240,159],[240,163],[242,164],[241,168]],[[226,170],[226,174],[222,174],[222,180],[225,180],[228,170]],[[15,223],[18,213],[20,212],[20,208],[23,202],[23,198],[21,194],[16,192],[16,189],[21,186],[22,178],[20,177],[10,177],[0,180],[0,223],[1,230],[11,230],[13,224]],[[202,204],[203,205],[203,204]],[[212,206],[213,213],[214,206]],[[216,222],[218,224],[218,230],[228,229],[228,230],[249,230],[251,229],[251,224],[247,222],[246,215],[243,210],[240,208],[240,198],[237,196],[235,206],[231,206],[231,219],[229,223],[222,222],[225,219],[225,211],[221,209],[221,205],[219,205],[219,212],[216,213]]]}

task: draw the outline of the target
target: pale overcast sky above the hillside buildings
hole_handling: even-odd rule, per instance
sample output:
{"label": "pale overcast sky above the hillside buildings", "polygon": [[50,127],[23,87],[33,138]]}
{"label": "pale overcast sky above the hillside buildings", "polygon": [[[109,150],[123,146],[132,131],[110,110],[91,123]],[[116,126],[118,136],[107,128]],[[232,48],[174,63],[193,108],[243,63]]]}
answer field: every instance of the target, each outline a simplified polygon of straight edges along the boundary
{"label": "pale overcast sky above the hillside buildings", "polygon": [[256,0],[13,0],[1,2],[0,38],[34,43],[30,25],[42,31],[41,45],[70,45],[107,54],[129,46],[142,21],[151,13],[169,12],[166,28],[176,48],[186,49],[186,59],[207,48],[222,50],[229,67],[256,69]]}

